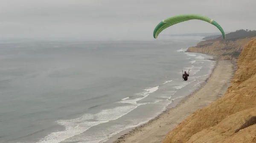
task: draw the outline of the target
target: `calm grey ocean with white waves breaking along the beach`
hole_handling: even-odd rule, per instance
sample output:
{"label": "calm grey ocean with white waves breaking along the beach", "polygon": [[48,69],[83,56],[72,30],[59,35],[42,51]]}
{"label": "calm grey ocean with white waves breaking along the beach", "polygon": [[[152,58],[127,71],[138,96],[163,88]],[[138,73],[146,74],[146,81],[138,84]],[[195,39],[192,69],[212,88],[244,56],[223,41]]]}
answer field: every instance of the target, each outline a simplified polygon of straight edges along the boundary
{"label": "calm grey ocean with white waves breaking along the beach", "polygon": [[102,143],[151,120],[209,77],[212,56],[185,52],[199,41],[0,41],[0,143]]}

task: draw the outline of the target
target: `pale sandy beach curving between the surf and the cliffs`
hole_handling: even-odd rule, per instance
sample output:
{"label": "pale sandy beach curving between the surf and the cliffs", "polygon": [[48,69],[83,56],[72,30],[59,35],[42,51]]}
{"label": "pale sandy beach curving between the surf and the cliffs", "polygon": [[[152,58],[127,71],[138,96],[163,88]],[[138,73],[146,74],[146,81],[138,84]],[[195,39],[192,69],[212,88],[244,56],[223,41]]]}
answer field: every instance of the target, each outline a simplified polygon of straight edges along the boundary
{"label": "pale sandy beach curving between the surf and the cliffs", "polygon": [[166,134],[197,109],[209,105],[226,92],[236,71],[236,64],[231,60],[219,60],[209,78],[201,88],[183,98],[178,103],[170,104],[151,121],[134,129],[125,130],[113,136],[106,143],[162,143]]}

